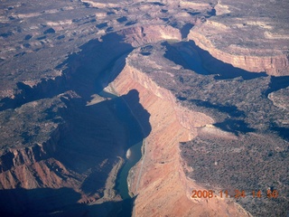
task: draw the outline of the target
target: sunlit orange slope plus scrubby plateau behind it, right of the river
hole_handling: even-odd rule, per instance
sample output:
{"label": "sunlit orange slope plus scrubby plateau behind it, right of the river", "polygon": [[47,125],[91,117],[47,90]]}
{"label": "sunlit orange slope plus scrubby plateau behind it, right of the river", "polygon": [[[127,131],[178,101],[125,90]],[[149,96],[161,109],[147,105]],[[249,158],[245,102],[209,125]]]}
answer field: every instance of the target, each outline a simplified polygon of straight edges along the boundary
{"label": "sunlit orange slope plus scrubby plateau behind it, right of the river", "polygon": [[[181,49],[180,44],[171,46],[175,46],[177,51]],[[288,130],[288,112],[284,107],[275,105],[279,98],[286,100],[281,97],[285,90],[270,93],[267,97],[266,92],[272,90],[270,86],[273,85],[269,77],[219,79],[218,75],[201,75],[184,70],[181,65],[164,58],[167,47],[166,43],[157,43],[135,50],[126,59],[127,66],[115,81],[116,90],[126,93],[132,86],[139,90],[141,96],[144,93],[144,97],[140,97],[141,103],[152,114],[150,123],[153,130],[150,137],[153,140],[147,138],[146,156],[138,165],[143,171],[142,178],[138,185],[132,185],[132,190],[138,193],[135,212],[139,215],[144,211],[153,215],[165,212],[162,209],[160,211],[160,207],[179,198],[176,193],[180,193],[179,191],[190,196],[192,189],[213,189],[216,192],[228,190],[229,195],[234,198],[235,189],[239,189],[246,191],[246,198],[225,201],[238,202],[256,216],[284,215],[288,206],[288,137],[284,133]],[[188,45],[185,44],[184,47],[187,48]],[[169,52],[165,56],[170,55]],[[179,62],[185,62],[181,55],[175,58],[179,58]],[[147,91],[151,93],[146,93]],[[154,96],[156,99],[150,99]],[[175,97],[184,108],[190,108],[188,113],[175,102]],[[160,101],[155,107],[162,108],[165,112],[157,113],[151,100],[154,103]],[[277,105],[280,103],[284,105],[282,101]],[[174,109],[171,111],[172,107]],[[198,111],[213,119],[204,118]],[[179,132],[177,126],[185,131]],[[181,145],[181,155],[188,165],[186,175],[200,185],[190,185],[191,181],[182,176],[182,170],[186,167],[180,166],[178,178],[171,171],[172,167],[178,165],[175,159],[180,156],[172,154],[177,151],[167,153],[167,148],[172,150],[171,146],[176,146],[171,145],[173,142],[188,139],[191,141]],[[137,183],[138,172],[136,169],[134,171],[132,175],[136,175]],[[276,199],[267,198],[268,188],[271,191],[277,190],[279,196]],[[259,190],[262,191],[263,198],[253,199],[252,191]],[[173,199],[170,197],[171,192]],[[147,195],[156,205],[147,202]],[[180,195],[180,201],[181,198]],[[173,204],[176,203],[174,201]],[[155,206],[158,209],[154,210]],[[169,209],[171,206],[165,207]],[[185,215],[192,212],[181,205],[180,209],[176,207],[179,206],[172,205],[168,214]],[[210,207],[214,207],[213,201]],[[195,206],[194,209],[198,210]],[[219,215],[221,213],[218,212]]]}

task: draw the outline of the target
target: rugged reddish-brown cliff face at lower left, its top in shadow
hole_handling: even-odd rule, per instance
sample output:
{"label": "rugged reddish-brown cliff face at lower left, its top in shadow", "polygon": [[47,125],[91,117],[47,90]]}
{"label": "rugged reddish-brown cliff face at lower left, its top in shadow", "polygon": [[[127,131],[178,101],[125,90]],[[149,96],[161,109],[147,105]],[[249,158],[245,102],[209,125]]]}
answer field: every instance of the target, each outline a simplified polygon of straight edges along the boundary
{"label": "rugged reddish-brown cliff face at lower left, its top in shadow", "polygon": [[[23,148],[10,148],[1,154],[0,161],[0,189],[22,187],[32,189],[47,186],[61,186],[61,177],[56,169],[64,166],[53,161],[55,148],[60,139],[60,131],[54,131],[51,138],[42,145]],[[53,169],[50,167],[56,166]]]}

